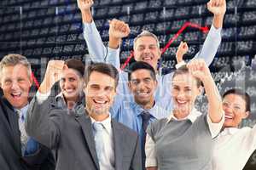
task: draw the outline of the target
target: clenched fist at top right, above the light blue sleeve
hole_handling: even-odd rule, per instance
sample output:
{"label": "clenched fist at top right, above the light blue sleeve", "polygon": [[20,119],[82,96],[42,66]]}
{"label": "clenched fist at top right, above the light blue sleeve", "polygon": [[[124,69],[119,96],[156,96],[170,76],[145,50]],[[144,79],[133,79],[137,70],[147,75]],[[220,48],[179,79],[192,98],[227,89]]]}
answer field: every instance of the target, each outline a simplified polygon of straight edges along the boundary
{"label": "clenched fist at top right, above the light blue sleeve", "polygon": [[225,0],[210,0],[207,3],[208,10],[214,15],[224,15],[226,12]]}

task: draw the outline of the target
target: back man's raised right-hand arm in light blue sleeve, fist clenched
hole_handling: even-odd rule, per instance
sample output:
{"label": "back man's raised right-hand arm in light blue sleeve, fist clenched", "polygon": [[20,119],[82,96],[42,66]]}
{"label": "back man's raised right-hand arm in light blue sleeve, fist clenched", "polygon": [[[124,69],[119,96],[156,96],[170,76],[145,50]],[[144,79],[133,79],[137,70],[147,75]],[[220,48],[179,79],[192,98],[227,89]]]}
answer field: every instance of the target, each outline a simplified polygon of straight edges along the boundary
{"label": "back man's raised right-hand arm in light blue sleeve, fist clenched", "polygon": [[195,54],[195,59],[204,59],[209,66],[212,63],[221,42],[221,29],[223,26],[224,14],[226,12],[226,1],[210,0],[207,3],[207,8],[213,14],[212,26],[201,51]]}

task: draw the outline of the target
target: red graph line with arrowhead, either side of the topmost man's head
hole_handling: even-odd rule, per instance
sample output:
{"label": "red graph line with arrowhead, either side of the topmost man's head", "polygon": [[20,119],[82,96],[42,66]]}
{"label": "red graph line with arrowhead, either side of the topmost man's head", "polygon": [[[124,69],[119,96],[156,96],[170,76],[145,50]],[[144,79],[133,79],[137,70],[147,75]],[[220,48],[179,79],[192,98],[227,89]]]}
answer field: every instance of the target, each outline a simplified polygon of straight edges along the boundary
{"label": "red graph line with arrowhead, either side of the topmost man's head", "polygon": [[[199,26],[199,25],[197,25],[197,24],[195,24],[195,23],[185,22],[185,23],[183,24],[183,26],[182,26],[182,27],[177,31],[177,33],[174,35],[174,37],[172,37],[172,38],[169,40],[169,42],[167,42],[165,48],[162,49],[161,54],[164,54],[164,53],[166,52],[166,50],[171,46],[172,42],[174,42],[174,41],[177,39],[177,37],[179,37],[179,35],[180,35],[187,27],[189,27],[189,26],[190,26],[190,27],[197,28],[197,29],[201,30],[201,31],[204,32],[204,33],[207,33],[207,32],[209,31],[209,29],[208,29],[207,26],[202,27],[202,26]],[[124,70],[124,69],[125,69],[126,65],[128,65],[128,63],[130,62],[130,60],[131,60],[131,58],[132,58],[133,56],[134,56],[134,55],[133,55],[133,52],[131,51],[131,54],[130,54],[129,57],[125,60],[125,64],[122,65],[121,70]]]}

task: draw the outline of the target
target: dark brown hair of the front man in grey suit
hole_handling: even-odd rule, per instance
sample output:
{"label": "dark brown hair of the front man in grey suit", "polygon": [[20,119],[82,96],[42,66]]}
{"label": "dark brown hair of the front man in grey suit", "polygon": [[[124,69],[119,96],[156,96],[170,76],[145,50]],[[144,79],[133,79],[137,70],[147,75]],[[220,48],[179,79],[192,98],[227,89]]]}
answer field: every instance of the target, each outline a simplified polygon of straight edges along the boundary
{"label": "dark brown hair of the front man in grey suit", "polygon": [[87,83],[89,82],[90,74],[93,71],[100,72],[102,74],[108,75],[109,77],[112,77],[114,79],[115,88],[117,87],[119,82],[119,71],[113,65],[109,65],[106,63],[95,63],[86,66],[84,71],[85,85],[87,85]]}

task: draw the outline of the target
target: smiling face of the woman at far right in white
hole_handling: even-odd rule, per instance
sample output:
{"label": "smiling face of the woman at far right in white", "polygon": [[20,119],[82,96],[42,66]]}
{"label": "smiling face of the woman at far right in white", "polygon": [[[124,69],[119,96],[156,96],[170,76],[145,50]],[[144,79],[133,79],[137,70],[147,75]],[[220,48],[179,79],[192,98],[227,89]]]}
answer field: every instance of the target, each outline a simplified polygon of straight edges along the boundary
{"label": "smiling face of the woman at far right in white", "polygon": [[238,127],[242,119],[247,118],[246,101],[240,95],[228,94],[223,99],[225,113],[224,127]]}

